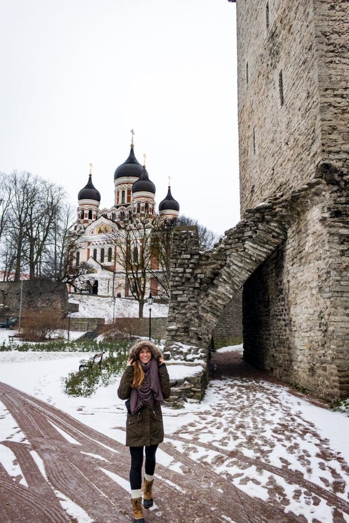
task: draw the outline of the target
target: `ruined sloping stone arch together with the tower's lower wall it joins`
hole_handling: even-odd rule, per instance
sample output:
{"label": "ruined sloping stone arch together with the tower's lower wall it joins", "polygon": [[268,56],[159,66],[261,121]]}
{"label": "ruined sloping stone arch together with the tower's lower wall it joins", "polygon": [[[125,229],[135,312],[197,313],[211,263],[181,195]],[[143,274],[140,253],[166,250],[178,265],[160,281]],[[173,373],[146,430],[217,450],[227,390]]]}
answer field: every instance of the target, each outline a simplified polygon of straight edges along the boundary
{"label": "ruined sloping stone arch together with the tower's lower wall it joins", "polygon": [[201,385],[215,328],[245,284],[245,359],[314,394],[347,394],[348,183],[318,178],[275,195],[207,253],[195,230],[175,228],[166,350],[202,365]]}

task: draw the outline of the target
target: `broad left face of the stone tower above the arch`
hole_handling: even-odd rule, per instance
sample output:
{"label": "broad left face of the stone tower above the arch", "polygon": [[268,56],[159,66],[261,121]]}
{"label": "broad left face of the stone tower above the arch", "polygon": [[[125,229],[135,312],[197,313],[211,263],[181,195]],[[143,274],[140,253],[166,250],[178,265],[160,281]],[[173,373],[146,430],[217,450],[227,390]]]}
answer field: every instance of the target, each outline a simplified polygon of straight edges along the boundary
{"label": "broad left face of the stone tower above the arch", "polygon": [[321,160],[312,2],[269,0],[268,28],[266,6],[237,2],[241,212],[301,187]]}

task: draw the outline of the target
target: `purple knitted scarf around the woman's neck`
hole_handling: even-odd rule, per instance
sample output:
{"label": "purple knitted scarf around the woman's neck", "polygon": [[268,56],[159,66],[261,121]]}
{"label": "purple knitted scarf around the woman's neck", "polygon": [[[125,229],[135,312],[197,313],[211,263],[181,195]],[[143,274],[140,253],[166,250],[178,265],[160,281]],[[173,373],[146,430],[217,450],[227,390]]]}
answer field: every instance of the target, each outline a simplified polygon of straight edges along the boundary
{"label": "purple knitted scarf around the woman's neck", "polygon": [[139,389],[132,389],[131,391],[131,413],[138,412],[144,406],[153,408],[154,401],[162,403],[164,401],[159,371],[157,370],[157,361],[152,358],[149,363],[144,364],[140,361],[141,367],[144,371],[144,380]]}

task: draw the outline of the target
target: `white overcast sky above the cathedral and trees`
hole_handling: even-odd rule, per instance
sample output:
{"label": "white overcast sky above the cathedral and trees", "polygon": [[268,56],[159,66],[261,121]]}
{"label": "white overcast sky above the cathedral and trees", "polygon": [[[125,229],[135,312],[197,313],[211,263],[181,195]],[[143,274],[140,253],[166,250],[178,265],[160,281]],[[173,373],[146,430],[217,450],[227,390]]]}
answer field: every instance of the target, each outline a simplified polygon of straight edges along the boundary
{"label": "white overcast sky above the cathedral and trees", "polygon": [[114,203],[134,151],[181,213],[239,221],[235,4],[227,0],[0,0],[0,170],[88,180]]}

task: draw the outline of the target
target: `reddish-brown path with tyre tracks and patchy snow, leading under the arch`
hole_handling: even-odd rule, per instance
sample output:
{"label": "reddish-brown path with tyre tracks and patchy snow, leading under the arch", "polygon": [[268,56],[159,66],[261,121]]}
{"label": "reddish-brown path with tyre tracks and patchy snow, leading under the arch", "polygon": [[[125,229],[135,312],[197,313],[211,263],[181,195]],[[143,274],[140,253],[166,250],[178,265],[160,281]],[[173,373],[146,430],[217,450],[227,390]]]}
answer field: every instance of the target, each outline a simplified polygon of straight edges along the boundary
{"label": "reddish-brown path with tyre tracks and patchy snow, leading under the arch", "polygon": [[[268,420],[263,412],[265,399],[258,402],[258,397],[265,394],[269,402],[277,402],[277,389],[264,382],[263,390],[258,375],[241,367],[239,361],[233,354],[215,357],[215,377],[219,378],[215,390],[224,401],[218,401],[212,413],[200,414],[195,424],[182,427],[161,445],[173,461],[171,467],[156,467],[156,504],[145,512],[147,523],[306,523],[301,512],[291,510],[297,496],[314,507],[331,507],[328,523],[349,521],[344,516],[349,505],[343,498],[346,464],[313,427],[295,416],[287,423],[273,425],[276,441],[282,440],[285,454],[292,454],[292,459],[299,460],[307,470],[307,453],[312,452],[311,442],[316,440],[323,484],[314,482],[309,470],[304,474],[297,470],[291,458],[280,462],[271,459],[273,442],[263,436]],[[224,379],[227,372],[232,381]],[[21,476],[14,478],[0,467],[1,523],[75,522],[74,515],[84,523],[132,521],[127,492],[129,456],[123,445],[9,385],[0,384],[0,401],[26,437],[21,442],[1,443],[14,453],[27,482],[20,483]],[[239,403],[239,410],[227,409],[227,403]],[[255,420],[246,426],[246,419],[251,417],[246,412],[252,405]],[[285,409],[286,416],[288,406],[280,408]],[[231,438],[238,437],[249,441],[251,455],[230,445]],[[308,445],[303,449],[299,442],[307,438]],[[308,461],[314,463],[313,459]],[[253,496],[244,488],[251,484],[257,489]],[[76,511],[71,502],[76,504]],[[78,514],[78,507],[84,512]],[[314,519],[313,523],[318,521]]]}

